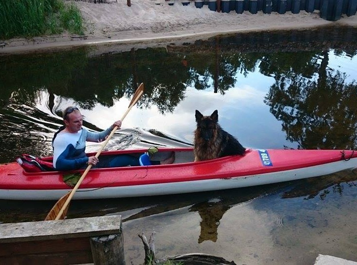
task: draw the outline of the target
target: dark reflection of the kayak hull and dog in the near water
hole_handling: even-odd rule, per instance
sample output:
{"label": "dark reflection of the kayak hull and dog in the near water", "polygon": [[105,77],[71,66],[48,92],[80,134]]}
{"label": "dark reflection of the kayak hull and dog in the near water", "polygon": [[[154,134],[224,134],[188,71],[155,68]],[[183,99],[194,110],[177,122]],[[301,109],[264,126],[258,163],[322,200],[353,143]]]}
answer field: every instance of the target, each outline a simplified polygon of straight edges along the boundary
{"label": "dark reflection of the kayak hull and dog in the near water", "polygon": [[[260,196],[273,194],[286,185],[288,183],[146,198],[75,200],[71,202],[71,211],[68,213],[68,218],[121,214],[123,221],[128,222],[162,213],[175,215],[182,214],[182,212],[198,212],[202,219],[198,242],[201,243],[204,240],[215,242],[219,222],[232,206],[249,202]],[[236,196],[237,193],[239,193],[239,196]],[[52,204],[52,201],[0,200],[0,222],[43,220]],[[16,213],[14,210],[16,210]],[[176,213],[172,213],[175,211]]]}

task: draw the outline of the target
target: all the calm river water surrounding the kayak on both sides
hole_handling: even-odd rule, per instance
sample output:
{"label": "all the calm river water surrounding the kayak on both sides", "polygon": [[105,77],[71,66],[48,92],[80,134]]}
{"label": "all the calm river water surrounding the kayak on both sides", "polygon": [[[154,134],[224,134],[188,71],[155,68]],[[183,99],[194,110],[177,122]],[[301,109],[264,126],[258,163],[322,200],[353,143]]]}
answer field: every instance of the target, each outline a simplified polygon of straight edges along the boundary
{"label": "all the calm river water surrounding the kayak on both sides", "polygon": [[[190,146],[195,109],[218,109],[246,147],[357,149],[357,29],[220,36],[165,48],[87,47],[0,56],[0,162],[51,155],[69,105],[100,131],[145,94],[109,150]],[[91,144],[88,151],[96,151]],[[0,200],[0,222],[43,220],[55,202]],[[127,263],[137,234],[156,233],[157,257],[203,252],[237,264],[357,261],[357,171],[225,191],[73,201],[69,218],[121,214]]]}

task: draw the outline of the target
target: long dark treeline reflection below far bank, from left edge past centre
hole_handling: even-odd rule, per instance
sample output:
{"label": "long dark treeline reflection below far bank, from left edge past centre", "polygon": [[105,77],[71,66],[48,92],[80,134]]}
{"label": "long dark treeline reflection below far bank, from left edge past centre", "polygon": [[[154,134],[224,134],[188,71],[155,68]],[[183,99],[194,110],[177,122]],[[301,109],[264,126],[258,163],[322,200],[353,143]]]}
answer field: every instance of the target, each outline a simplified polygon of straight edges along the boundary
{"label": "long dark treeline reflection below far bank, from left edge past centre", "polygon": [[[219,41],[219,39],[217,40]],[[217,48],[218,42],[217,42]],[[85,49],[44,55],[16,55],[0,58],[3,92],[1,106],[9,98],[31,106],[36,91],[47,89],[51,95],[71,98],[81,108],[96,104],[113,106],[114,101],[130,98],[141,82],[145,93],[138,106],[157,106],[161,113],[173,112],[184,98],[186,85],[197,89],[213,86],[224,94],[235,83],[239,72],[255,68],[259,54],[222,53],[215,50],[187,54],[188,67],[178,53],[165,49],[131,50],[130,52],[87,57]],[[16,97],[14,97],[16,93]]]}

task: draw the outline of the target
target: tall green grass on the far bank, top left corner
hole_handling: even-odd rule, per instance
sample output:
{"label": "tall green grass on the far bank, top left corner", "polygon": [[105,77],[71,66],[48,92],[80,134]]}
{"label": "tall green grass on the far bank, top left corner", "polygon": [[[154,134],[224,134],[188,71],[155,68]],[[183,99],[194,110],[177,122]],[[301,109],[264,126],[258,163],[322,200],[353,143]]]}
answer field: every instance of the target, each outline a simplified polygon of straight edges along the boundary
{"label": "tall green grass on the far bank, top left corner", "polygon": [[63,0],[0,0],[0,39],[60,34],[83,35],[83,20],[74,4]]}

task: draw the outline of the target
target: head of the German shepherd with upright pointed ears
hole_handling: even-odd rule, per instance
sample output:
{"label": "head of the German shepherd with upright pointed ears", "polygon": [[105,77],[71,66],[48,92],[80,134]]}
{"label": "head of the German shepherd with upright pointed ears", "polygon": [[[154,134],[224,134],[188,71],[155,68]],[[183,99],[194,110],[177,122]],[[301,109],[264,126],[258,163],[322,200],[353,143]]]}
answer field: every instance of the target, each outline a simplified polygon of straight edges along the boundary
{"label": "head of the German shepherd with upright pointed ears", "polygon": [[209,141],[214,137],[218,128],[218,110],[216,109],[210,116],[204,116],[196,109],[197,132],[205,140]]}

